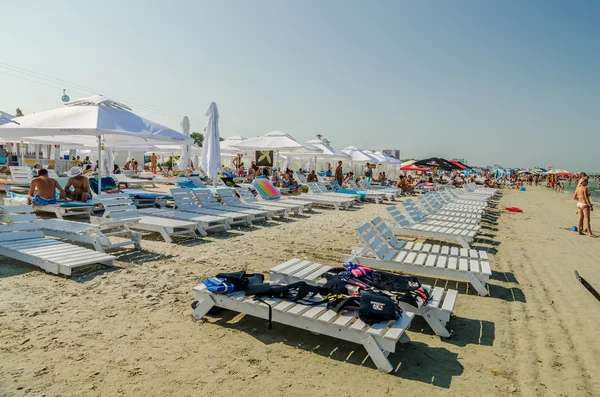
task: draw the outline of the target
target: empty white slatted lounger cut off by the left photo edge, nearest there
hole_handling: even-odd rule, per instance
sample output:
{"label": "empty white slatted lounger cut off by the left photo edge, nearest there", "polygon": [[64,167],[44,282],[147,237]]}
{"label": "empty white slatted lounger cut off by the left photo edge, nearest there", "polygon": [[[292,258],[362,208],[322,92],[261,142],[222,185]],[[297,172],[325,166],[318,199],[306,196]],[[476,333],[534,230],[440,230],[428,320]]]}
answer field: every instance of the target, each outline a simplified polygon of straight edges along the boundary
{"label": "empty white slatted lounger cut off by the left photo edge, nearest there", "polygon": [[95,263],[113,266],[115,260],[111,255],[45,238],[29,206],[0,207],[0,255],[67,276],[76,267]]}

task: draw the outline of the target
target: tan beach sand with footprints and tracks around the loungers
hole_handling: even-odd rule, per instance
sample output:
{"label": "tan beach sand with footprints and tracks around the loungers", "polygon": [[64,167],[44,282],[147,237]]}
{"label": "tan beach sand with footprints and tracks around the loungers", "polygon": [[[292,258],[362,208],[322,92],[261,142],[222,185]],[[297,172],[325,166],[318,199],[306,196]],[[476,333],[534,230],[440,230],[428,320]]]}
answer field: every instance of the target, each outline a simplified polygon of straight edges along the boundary
{"label": "tan beach sand with footprints and tracks around the loungers", "polygon": [[[0,260],[1,396],[598,396],[600,239],[570,230],[570,196],[504,190],[497,225],[478,247],[497,249],[491,296],[457,288],[453,335],[422,319],[379,373],[362,346],[222,312],[192,318],[192,288],[220,271],[266,273],[292,257],[340,263],[355,228],[384,205],[314,214],[253,230],[118,253],[118,267],[71,279]],[[593,226],[600,227],[594,214]],[[600,229],[599,229],[600,231]]]}

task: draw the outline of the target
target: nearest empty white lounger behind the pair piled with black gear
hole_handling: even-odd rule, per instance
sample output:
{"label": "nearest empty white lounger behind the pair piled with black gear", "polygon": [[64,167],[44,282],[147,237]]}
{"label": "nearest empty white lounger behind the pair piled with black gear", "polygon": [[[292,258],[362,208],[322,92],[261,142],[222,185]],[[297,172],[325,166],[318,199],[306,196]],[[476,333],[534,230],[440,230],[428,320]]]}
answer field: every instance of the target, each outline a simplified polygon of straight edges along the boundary
{"label": "nearest empty white lounger behind the pair piled with black gear", "polygon": [[345,262],[465,281],[479,295],[488,295],[485,286],[492,271],[485,251],[407,243],[396,239],[381,218],[364,223],[356,231],[364,244],[355,247],[350,255],[342,256]]}

